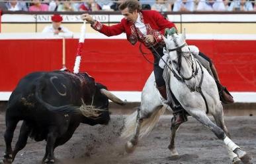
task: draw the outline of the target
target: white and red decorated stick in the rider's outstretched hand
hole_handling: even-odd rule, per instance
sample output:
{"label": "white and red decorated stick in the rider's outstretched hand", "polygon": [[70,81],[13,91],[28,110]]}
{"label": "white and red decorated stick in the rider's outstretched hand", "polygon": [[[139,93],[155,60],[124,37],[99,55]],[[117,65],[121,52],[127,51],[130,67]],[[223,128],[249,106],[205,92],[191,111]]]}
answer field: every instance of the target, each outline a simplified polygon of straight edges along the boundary
{"label": "white and red decorated stick in the rider's outstretched hand", "polygon": [[81,53],[82,53],[82,49],[83,49],[83,43],[85,42],[85,28],[86,28],[86,24],[84,21],[83,26],[81,26],[81,34],[79,37],[79,43],[78,43],[78,47],[77,47],[77,57],[75,57],[75,66],[74,66],[74,70],[73,70],[73,72],[75,74],[77,74],[79,72],[79,67],[80,67],[80,63],[81,63]]}

